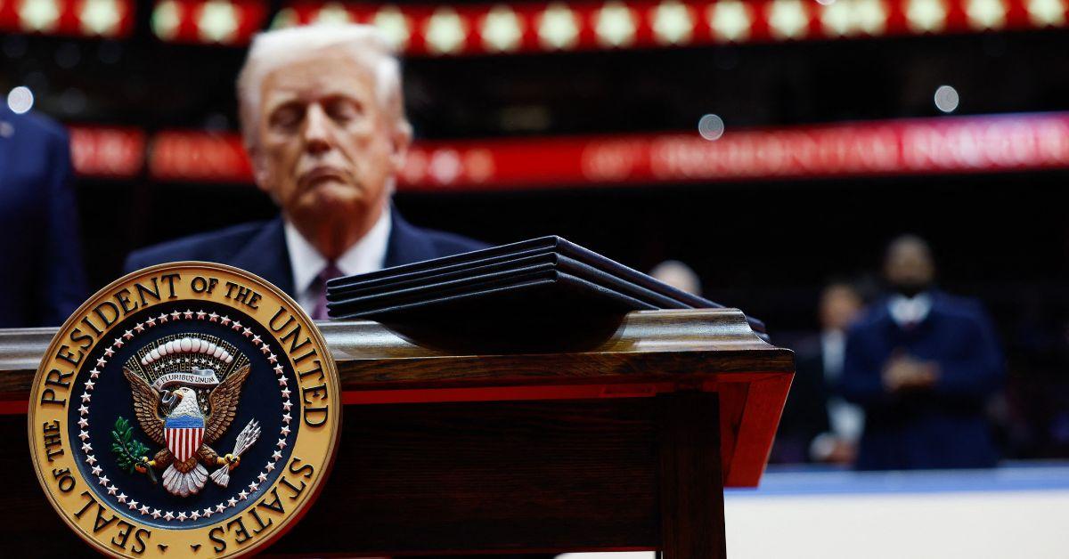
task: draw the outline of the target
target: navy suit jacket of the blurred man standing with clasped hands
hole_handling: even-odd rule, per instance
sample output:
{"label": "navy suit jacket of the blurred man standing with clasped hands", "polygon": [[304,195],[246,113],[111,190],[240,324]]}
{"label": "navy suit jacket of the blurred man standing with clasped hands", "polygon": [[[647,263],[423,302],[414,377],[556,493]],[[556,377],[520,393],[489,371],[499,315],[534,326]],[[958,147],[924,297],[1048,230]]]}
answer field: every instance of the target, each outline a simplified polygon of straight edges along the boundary
{"label": "navy suit jacket of the blurred man standing with clasped hands", "polygon": [[[931,389],[890,394],[881,381],[887,359],[904,352],[935,361]],[[975,468],[997,453],[985,404],[1004,378],[998,341],[979,305],[932,294],[928,316],[900,328],[881,302],[850,330],[842,392],[865,407],[858,469]]]}

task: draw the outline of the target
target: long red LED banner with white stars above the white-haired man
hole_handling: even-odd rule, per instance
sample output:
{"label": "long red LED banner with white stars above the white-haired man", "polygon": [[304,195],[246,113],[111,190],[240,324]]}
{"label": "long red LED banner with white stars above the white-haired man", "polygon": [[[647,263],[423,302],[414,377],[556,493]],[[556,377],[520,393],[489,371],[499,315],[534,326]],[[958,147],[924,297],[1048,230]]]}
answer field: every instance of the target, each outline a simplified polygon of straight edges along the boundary
{"label": "long red LED banner with white stars above the white-haired man", "polygon": [[[211,37],[226,34],[226,42],[244,44],[263,15],[263,7],[258,11],[254,3],[158,0],[153,20],[157,34],[168,41],[218,41]],[[463,56],[1064,28],[1067,7],[1069,0],[579,0],[458,5],[295,0],[270,27],[372,24],[406,55]],[[205,17],[205,9],[211,9],[211,17]]]}

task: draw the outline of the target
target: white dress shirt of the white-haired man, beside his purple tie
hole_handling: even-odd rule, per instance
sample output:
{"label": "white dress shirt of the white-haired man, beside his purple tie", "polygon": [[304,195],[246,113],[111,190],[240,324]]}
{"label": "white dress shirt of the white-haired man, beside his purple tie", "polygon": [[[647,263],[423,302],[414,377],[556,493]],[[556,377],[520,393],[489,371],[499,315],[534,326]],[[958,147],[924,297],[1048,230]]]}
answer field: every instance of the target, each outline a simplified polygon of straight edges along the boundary
{"label": "white dress shirt of the white-haired man, beside his purple tie", "polygon": [[[384,208],[378,221],[371,227],[363,238],[342,253],[335,266],[346,276],[367,274],[383,269],[386,265],[386,247],[390,239],[390,211]],[[290,251],[290,269],[293,271],[293,289],[297,292],[297,304],[309,314],[315,312],[320,293],[313,289],[315,277],[327,266],[327,259],[285,220],[285,248]]]}

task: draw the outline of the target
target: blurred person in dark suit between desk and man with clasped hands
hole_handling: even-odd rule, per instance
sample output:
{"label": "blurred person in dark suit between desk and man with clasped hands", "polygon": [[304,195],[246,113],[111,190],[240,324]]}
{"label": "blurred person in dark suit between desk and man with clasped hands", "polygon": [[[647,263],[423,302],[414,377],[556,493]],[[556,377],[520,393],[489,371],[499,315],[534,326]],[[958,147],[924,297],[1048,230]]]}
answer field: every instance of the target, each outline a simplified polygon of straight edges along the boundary
{"label": "blurred person in dark suit between desk and man with clasped hands", "polygon": [[776,435],[779,462],[852,464],[865,424],[861,406],[839,393],[847,328],[863,308],[857,289],[828,283],[820,294],[821,331],[795,354],[794,382]]}

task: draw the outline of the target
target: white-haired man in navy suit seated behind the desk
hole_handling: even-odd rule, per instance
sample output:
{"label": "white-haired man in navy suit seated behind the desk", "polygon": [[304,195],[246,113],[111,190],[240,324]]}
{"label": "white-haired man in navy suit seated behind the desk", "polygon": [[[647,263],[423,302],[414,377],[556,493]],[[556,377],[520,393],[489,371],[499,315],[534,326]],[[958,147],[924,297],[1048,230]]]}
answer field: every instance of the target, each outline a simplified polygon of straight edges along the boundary
{"label": "white-haired man in navy suit seated behind the desk", "polygon": [[257,186],[281,215],[136,251],[127,270],[179,260],[230,264],[322,320],[328,279],[484,247],[413,227],[391,207],[412,126],[400,65],[373,27],[261,33],[237,94]]}

